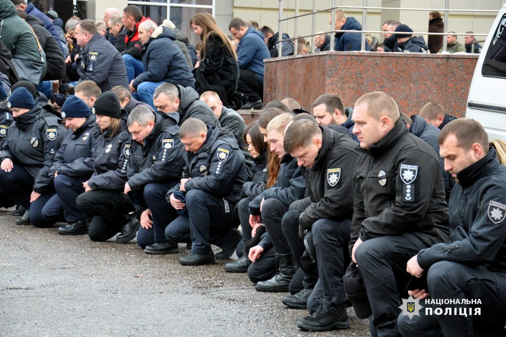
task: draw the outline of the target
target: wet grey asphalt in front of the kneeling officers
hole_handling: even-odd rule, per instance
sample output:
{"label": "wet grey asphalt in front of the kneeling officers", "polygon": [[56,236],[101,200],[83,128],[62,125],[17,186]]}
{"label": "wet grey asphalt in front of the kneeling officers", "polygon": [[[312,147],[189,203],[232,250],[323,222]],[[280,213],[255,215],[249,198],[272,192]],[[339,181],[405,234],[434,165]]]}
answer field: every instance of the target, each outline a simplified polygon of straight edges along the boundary
{"label": "wet grey asphalt in front of the kneeling officers", "polygon": [[281,304],[286,293],[256,291],[245,274],[223,270],[230,260],[182,266],[183,244],[179,254],[147,255],[136,243],[92,242],[16,219],[0,211],[2,336],[369,335],[353,309],[348,330],[299,330],[307,311]]}

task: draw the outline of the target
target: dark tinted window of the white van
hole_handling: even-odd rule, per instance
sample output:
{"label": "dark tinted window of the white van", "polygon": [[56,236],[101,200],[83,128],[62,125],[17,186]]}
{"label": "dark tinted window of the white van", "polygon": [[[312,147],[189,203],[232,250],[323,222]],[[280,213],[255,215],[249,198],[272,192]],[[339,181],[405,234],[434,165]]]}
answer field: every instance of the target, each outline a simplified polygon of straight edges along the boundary
{"label": "dark tinted window of the white van", "polygon": [[481,68],[483,76],[506,78],[506,14],[495,29]]}

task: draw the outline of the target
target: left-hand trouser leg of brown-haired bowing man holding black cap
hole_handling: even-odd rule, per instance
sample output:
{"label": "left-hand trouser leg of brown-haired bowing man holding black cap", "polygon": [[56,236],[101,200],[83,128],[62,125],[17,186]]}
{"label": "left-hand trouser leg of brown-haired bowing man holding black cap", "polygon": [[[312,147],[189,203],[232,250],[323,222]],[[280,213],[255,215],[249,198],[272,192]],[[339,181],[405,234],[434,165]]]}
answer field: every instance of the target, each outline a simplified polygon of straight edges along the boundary
{"label": "left-hand trouser leg of brown-haired bowing man holding black cap", "polygon": [[304,273],[304,283],[307,287],[313,288],[318,281],[318,267],[314,263],[310,266],[302,264],[302,255],[304,251],[306,251],[304,240],[299,236],[299,216],[302,212],[303,210],[299,209],[286,212],[283,216],[281,227],[284,237],[293,252],[295,261],[297,261],[299,268],[301,268]]}

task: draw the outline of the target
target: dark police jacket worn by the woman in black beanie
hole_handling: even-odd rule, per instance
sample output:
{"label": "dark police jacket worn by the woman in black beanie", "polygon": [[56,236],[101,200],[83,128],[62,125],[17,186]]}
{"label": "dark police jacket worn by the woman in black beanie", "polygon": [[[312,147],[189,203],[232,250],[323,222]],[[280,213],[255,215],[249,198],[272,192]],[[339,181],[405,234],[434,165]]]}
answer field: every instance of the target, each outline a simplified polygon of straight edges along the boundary
{"label": "dark police jacket worn by the woman in black beanie", "polygon": [[130,142],[132,135],[126,127],[126,111],[122,111],[120,127],[116,135],[110,137],[106,129],[97,140],[93,167],[95,172],[88,180],[93,190],[123,191],[126,183],[126,167],[130,161]]}

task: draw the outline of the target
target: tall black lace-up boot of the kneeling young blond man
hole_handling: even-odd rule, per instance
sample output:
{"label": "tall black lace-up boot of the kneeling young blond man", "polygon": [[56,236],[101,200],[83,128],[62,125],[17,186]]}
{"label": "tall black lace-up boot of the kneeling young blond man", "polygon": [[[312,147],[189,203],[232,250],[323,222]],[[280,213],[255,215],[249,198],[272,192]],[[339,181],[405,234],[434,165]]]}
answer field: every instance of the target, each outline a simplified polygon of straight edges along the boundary
{"label": "tall black lace-up boot of the kneeling young blond man", "polygon": [[270,280],[258,282],[255,286],[258,291],[288,291],[288,285],[298,268],[297,263],[291,252],[288,254],[276,253],[276,260],[279,266],[278,272]]}

